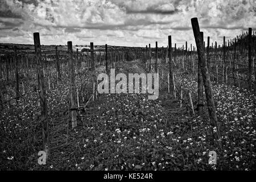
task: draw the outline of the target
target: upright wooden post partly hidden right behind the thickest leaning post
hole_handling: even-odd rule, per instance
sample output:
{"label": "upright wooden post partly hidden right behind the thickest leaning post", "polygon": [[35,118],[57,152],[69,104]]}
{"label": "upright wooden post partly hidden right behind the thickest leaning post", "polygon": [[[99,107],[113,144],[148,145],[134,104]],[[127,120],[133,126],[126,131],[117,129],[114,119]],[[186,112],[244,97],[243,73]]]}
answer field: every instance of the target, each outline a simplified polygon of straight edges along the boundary
{"label": "upright wooden post partly hidden right behind the thickest leaning post", "polygon": [[[201,40],[202,40],[202,44],[204,42],[204,32],[200,32],[201,35]],[[204,49],[203,49],[204,51]],[[198,50],[197,50],[198,52]],[[197,62],[197,107],[198,107],[198,111],[199,111],[199,115],[203,114],[203,94],[204,94],[204,82],[203,82],[203,77],[202,77],[202,73],[201,73],[201,68],[200,68],[200,60],[198,59]]]}

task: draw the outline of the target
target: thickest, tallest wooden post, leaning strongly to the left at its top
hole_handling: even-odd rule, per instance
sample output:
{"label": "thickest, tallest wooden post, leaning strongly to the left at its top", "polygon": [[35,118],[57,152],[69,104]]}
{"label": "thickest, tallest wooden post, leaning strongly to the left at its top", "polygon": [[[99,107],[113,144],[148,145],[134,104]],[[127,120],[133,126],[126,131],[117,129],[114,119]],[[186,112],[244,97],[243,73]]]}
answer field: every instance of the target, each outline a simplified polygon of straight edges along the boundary
{"label": "thickest, tallest wooden post, leaning strongly to the left at its top", "polygon": [[192,18],[191,23],[192,23],[192,28],[193,28],[193,34],[194,34],[195,40],[196,40],[197,53],[198,53],[200,68],[201,68],[202,77],[203,77],[203,81],[204,81],[204,90],[205,90],[205,95],[207,98],[207,105],[208,105],[210,121],[212,123],[212,127],[215,126],[217,129],[218,141],[220,144],[220,148],[222,148],[220,127],[218,125],[216,108],[215,108],[215,104],[214,104],[214,100],[213,100],[212,85],[210,84],[209,71],[207,68],[207,63],[206,63],[204,51],[203,51],[203,49],[204,49],[203,44],[202,44],[203,40],[200,35],[200,28],[199,28],[199,23],[197,21],[197,18]]}

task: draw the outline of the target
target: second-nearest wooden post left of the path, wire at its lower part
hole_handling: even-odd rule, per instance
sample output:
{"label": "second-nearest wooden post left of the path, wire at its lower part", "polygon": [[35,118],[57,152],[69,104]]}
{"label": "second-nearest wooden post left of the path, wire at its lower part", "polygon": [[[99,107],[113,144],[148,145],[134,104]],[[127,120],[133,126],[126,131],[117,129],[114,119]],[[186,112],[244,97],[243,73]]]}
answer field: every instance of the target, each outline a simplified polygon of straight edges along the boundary
{"label": "second-nearest wooden post left of the path, wire at its lower part", "polygon": [[[68,42],[68,56],[69,56],[69,96],[71,109],[76,108],[76,85],[75,85],[75,73],[74,73],[74,64],[72,56],[72,42]],[[72,129],[77,126],[77,113],[76,110],[71,110],[71,121]]]}

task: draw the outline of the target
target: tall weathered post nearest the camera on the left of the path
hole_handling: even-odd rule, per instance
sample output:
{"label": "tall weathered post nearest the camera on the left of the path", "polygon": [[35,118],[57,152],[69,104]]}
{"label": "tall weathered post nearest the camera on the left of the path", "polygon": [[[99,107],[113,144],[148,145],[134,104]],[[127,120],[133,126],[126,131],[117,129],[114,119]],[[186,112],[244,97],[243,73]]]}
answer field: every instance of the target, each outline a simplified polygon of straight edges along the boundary
{"label": "tall weathered post nearest the camera on the left of the path", "polygon": [[36,60],[36,71],[38,75],[38,86],[39,86],[39,97],[41,107],[41,123],[43,128],[43,150],[46,152],[46,158],[49,155],[49,133],[48,133],[48,113],[47,113],[47,100],[46,100],[46,89],[44,88],[44,76],[43,76],[43,64],[42,64],[42,53],[40,46],[39,33],[34,33],[34,45],[35,45],[35,60]]}

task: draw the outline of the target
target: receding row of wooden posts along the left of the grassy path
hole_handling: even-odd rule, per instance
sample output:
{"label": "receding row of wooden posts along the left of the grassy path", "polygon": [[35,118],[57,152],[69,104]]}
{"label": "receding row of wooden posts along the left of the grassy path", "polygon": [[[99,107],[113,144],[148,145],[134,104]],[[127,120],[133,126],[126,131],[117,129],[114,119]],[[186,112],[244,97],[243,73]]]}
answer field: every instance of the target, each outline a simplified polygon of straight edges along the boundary
{"label": "receding row of wooden posts along the left of the grassy path", "polygon": [[[39,85],[39,97],[40,97],[40,107],[41,107],[41,121],[43,127],[43,150],[46,152],[47,156],[49,155],[49,133],[48,133],[48,114],[47,114],[47,100],[46,100],[46,89],[44,85],[44,74],[43,74],[43,63],[42,63],[42,52],[40,48],[40,37],[39,33],[34,33],[34,45],[35,45],[35,60],[36,60],[36,72],[38,75],[38,85]],[[105,45],[105,59],[108,60],[108,48],[107,44]],[[94,50],[93,43],[90,43],[90,53],[91,53],[91,69],[92,72],[95,69],[94,66]],[[76,85],[75,85],[75,66],[73,63],[73,52],[72,52],[72,42],[68,42],[68,68],[69,68],[69,98],[70,98],[70,112],[71,112],[71,121],[72,128],[77,126],[77,111],[76,107],[80,106]],[[56,60],[57,61],[57,60]],[[113,63],[113,61],[112,61]],[[56,64],[57,65],[57,64]],[[106,73],[109,73],[108,61],[106,61]],[[56,68],[58,70],[58,68]],[[94,92],[97,90],[95,84],[95,78],[93,77],[93,100]],[[18,81],[17,81],[18,82]],[[97,97],[97,92],[96,92]]]}

